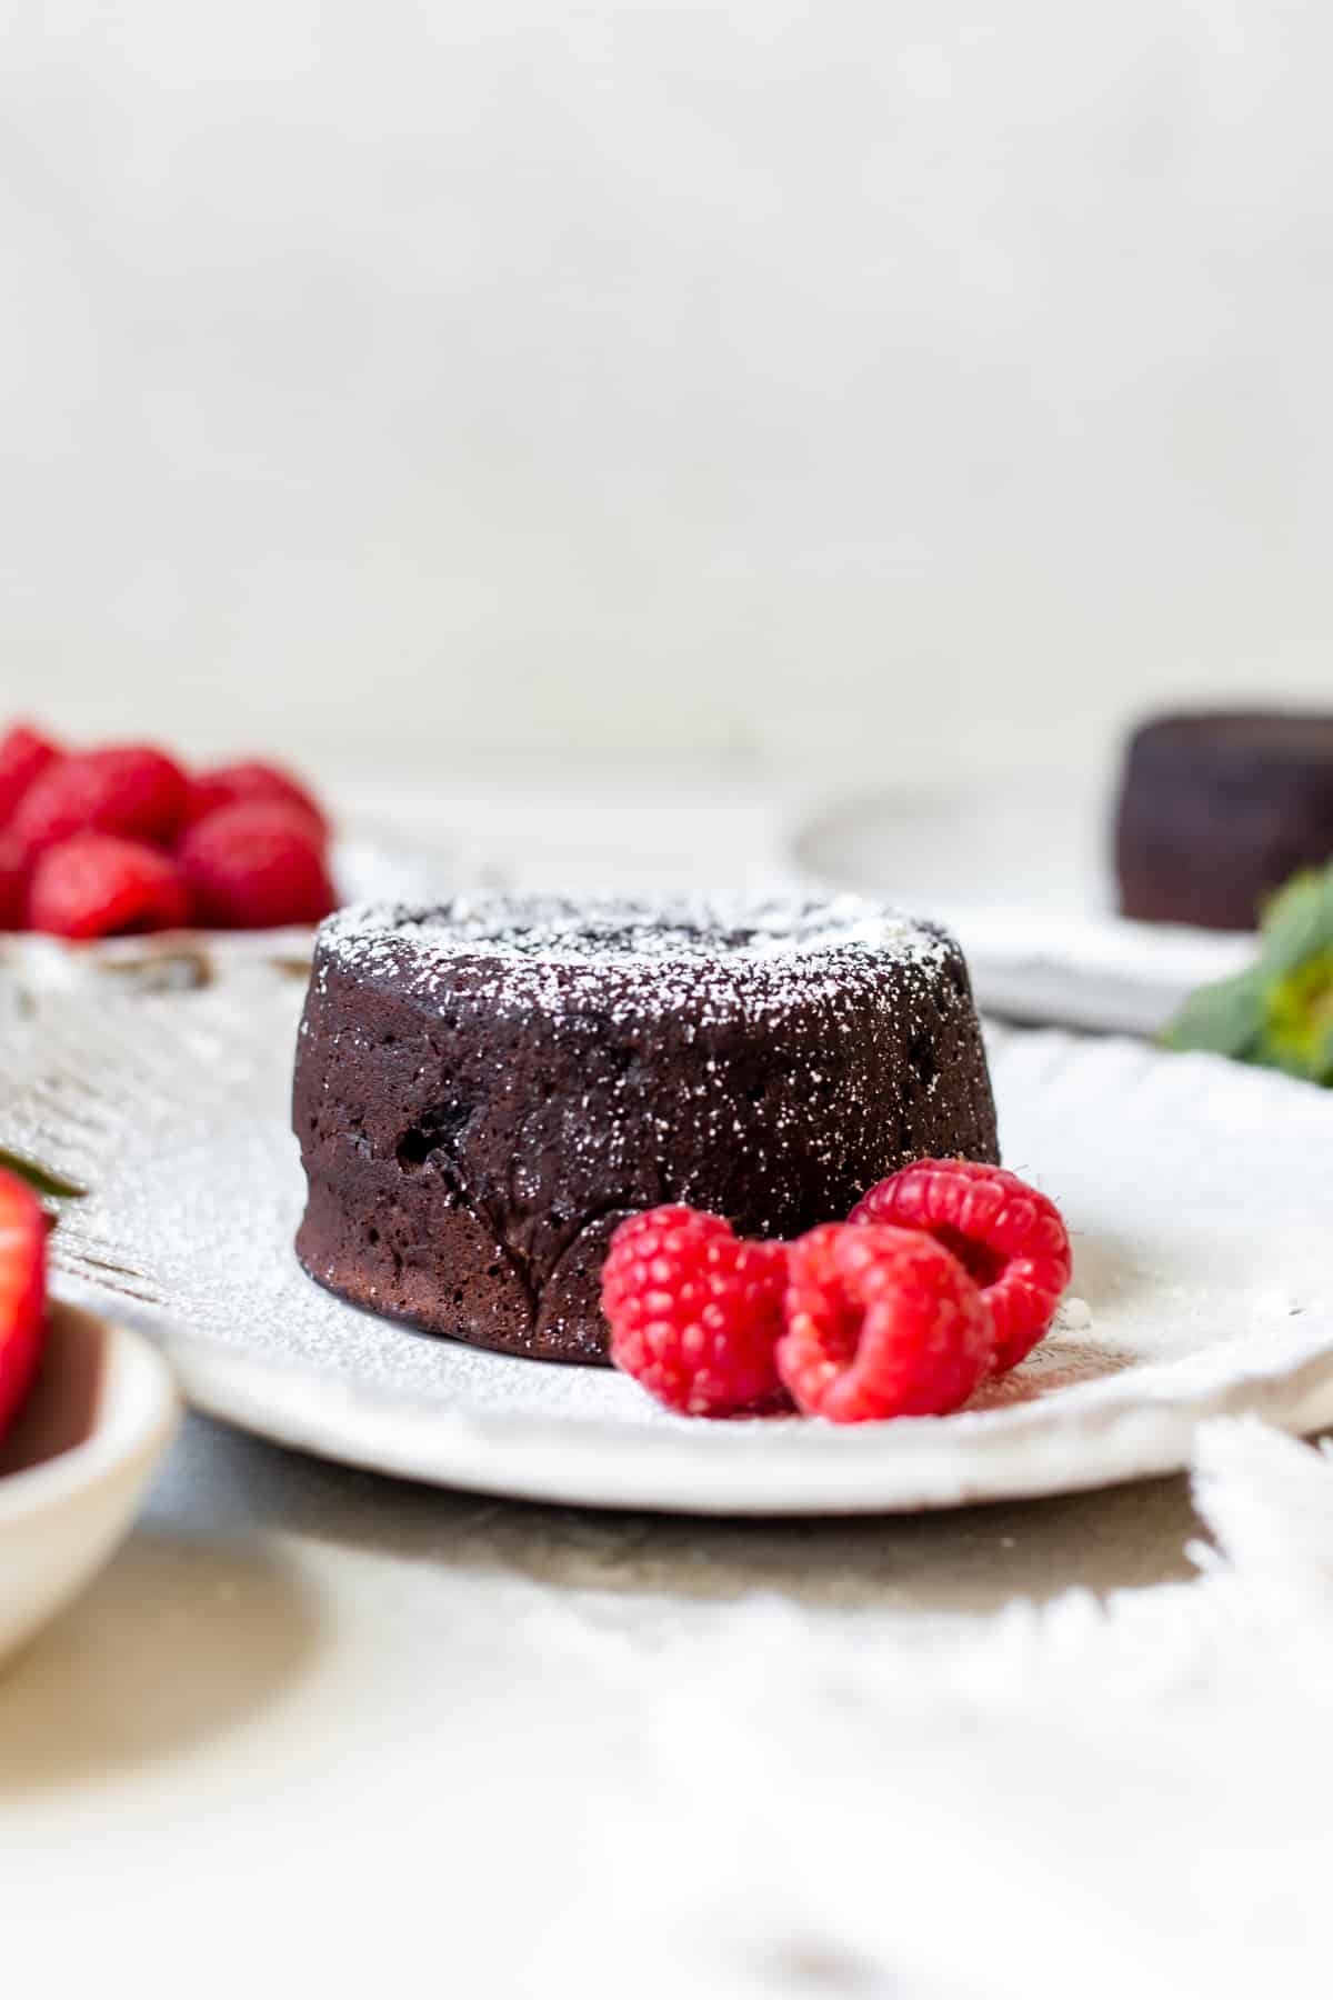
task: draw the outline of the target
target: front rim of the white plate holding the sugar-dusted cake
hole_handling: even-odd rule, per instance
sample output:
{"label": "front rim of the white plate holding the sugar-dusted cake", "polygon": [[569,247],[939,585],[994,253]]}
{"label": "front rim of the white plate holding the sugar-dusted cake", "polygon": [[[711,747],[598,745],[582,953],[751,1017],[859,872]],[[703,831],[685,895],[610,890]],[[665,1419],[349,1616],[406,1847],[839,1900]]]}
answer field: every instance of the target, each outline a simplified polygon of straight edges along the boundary
{"label": "front rim of the white plate holding the sugar-dusted cake", "polygon": [[[939,1418],[893,1418],[853,1430],[795,1418],[787,1434],[799,1438],[799,1488],[775,1494],[771,1486],[781,1454],[767,1448],[771,1422],[725,1426],[727,1444],[755,1440],[741,1446],[745,1456],[753,1452],[743,1466],[741,1454],[721,1456],[721,1426],[679,1420],[679,1428],[662,1424],[648,1430],[608,1418],[450,1410],[444,1402],[428,1404],[376,1382],[354,1384],[326,1370],[238,1354],[208,1334],[182,1330],[168,1312],[134,1306],[88,1280],[62,1274],[56,1290],[88,1310],[94,1304],[108,1310],[108,1300],[114,1300],[118,1320],[164,1352],[190,1406],[238,1430],[364,1472],[550,1506],[723,1518],[943,1512],[1181,1472],[1193,1456],[1197,1428],[1217,1416],[1257,1416],[1299,1436],[1333,1424],[1333,1322],[1329,1314],[1319,1314],[1315,1324],[1323,1324],[1323,1346],[1315,1352],[1301,1340],[1299,1358],[1293,1358],[1271,1330],[1237,1334],[1221,1346],[1257,1350],[1265,1344],[1271,1348],[1269,1364],[1255,1354],[1253,1366],[1223,1384],[1181,1386],[1175,1394],[1147,1396],[1131,1406],[1099,1406],[1091,1418],[1083,1412],[1077,1424],[1051,1424],[1049,1416],[1039,1416],[1043,1406],[1037,1400],[957,1412],[945,1422],[973,1426],[983,1490],[971,1490],[971,1480],[959,1490],[955,1464],[933,1452],[927,1440]],[[1135,1382],[1143,1382],[1149,1366],[1133,1370]],[[1171,1364],[1161,1366],[1169,1372]],[[1075,1384],[1063,1394],[1075,1398],[1091,1386]],[[580,1454],[572,1450],[572,1432],[580,1430],[598,1442],[590,1478],[580,1474]],[[1031,1430],[1037,1450],[1021,1458],[1005,1456],[1015,1430]],[[1093,1438],[1101,1450],[1089,1458]],[[759,1452],[765,1456],[759,1458]],[[991,1456],[993,1464],[987,1462]],[[699,1468],[709,1458],[709,1470],[719,1474],[711,1486],[699,1480]],[[913,1470],[921,1474],[915,1488],[903,1484],[903,1458],[913,1460]],[[883,1466],[883,1484],[867,1476],[875,1464]],[[757,1486],[763,1490],[745,1486],[743,1472],[751,1470],[759,1472]],[[681,1498],[685,1474],[689,1498]]]}

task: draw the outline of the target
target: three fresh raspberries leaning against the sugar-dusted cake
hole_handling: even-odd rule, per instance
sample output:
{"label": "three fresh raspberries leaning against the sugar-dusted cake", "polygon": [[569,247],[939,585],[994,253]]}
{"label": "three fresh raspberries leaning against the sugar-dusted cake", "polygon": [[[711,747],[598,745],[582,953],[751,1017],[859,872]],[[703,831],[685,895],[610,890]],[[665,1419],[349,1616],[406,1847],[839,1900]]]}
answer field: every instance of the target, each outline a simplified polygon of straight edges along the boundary
{"label": "three fresh raspberries leaning against the sugar-dusted cake", "polygon": [[719,1216],[622,1222],[602,1274],[612,1360],[687,1416],[795,1406],[833,1424],[945,1416],[1049,1330],[1059,1210],[1017,1174],[921,1160],[793,1244]]}

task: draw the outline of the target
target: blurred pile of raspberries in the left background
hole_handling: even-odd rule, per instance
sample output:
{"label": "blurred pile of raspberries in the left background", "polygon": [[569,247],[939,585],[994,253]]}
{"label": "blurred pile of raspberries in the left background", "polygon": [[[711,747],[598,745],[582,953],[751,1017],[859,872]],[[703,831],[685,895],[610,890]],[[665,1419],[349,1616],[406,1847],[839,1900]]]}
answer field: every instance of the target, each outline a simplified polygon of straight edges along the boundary
{"label": "blurred pile of raspberries in the left background", "polygon": [[272,930],[334,908],[328,820],[274,764],[190,774],[150,744],[0,738],[0,930]]}

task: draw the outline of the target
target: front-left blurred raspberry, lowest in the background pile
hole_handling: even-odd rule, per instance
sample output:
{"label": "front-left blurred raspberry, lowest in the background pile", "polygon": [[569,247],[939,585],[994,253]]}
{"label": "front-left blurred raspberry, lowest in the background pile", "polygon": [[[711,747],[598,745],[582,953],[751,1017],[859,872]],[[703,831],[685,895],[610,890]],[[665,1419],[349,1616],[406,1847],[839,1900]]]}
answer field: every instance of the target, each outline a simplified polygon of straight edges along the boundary
{"label": "front-left blurred raspberry, lowest in the background pile", "polygon": [[38,856],[28,922],[56,938],[178,930],[190,922],[190,884],[178,860],[142,840],[76,834]]}

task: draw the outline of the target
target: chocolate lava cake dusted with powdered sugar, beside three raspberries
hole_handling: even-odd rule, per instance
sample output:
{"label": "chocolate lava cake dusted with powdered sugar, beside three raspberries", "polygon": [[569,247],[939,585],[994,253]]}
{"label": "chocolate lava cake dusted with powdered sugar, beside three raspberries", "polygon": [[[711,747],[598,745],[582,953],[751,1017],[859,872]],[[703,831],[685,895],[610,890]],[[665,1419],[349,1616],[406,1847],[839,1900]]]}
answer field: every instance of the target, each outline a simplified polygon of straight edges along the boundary
{"label": "chocolate lava cake dusted with powdered sugar, beside three raspberries", "polygon": [[837,900],[456,900],[320,930],[296,1058],[298,1254],[372,1312],[606,1360],[618,1222],[843,1218],[909,1160],[997,1160],[953,938]]}

